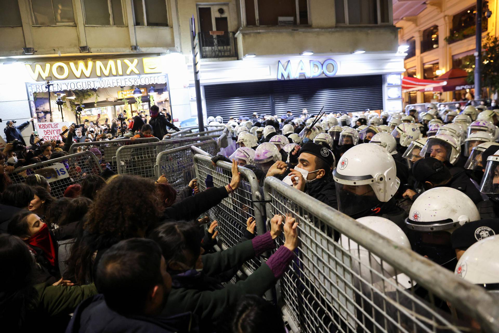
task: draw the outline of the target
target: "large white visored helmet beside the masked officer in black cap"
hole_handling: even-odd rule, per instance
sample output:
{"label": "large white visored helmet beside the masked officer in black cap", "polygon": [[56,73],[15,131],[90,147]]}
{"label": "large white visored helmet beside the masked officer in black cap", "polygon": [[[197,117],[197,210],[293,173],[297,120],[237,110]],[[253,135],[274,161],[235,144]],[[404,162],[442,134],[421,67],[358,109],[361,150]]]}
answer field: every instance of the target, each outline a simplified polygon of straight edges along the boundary
{"label": "large white visored helmet beside the masked officer in black cap", "polygon": [[352,217],[371,215],[397,192],[396,174],[395,160],[383,147],[362,143],[348,149],[333,171],[338,210]]}

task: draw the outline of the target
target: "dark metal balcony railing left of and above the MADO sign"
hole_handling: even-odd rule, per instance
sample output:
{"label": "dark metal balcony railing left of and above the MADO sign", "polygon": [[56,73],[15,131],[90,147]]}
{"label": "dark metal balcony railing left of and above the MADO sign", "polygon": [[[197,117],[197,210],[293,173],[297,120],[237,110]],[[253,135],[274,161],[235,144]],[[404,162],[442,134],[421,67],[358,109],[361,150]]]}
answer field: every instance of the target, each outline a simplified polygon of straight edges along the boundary
{"label": "dark metal balcony railing left of and above the MADO sign", "polygon": [[210,31],[199,32],[202,58],[236,57],[234,32]]}

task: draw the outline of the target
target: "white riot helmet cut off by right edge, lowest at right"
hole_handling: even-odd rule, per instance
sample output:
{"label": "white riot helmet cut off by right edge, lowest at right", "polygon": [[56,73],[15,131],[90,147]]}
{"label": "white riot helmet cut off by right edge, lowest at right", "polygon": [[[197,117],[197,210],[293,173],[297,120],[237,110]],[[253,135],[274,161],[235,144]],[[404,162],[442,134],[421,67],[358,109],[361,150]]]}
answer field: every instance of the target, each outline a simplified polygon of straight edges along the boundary
{"label": "white riot helmet cut off by right edge, lowest at right", "polygon": [[454,274],[484,287],[489,292],[499,291],[499,235],[490,236],[470,246],[461,256]]}

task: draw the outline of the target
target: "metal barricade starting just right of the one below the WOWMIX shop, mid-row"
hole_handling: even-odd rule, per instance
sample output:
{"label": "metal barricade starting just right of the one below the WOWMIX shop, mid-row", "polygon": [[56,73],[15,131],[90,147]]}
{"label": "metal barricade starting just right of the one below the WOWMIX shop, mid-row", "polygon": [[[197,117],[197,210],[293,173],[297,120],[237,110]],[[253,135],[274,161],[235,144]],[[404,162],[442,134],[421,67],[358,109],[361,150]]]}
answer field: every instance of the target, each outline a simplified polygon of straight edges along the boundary
{"label": "metal barricade starting just right of the one below the WOWMIX shop, mid-row", "polygon": [[118,174],[136,175],[154,178],[156,157],[162,151],[184,147],[186,145],[212,139],[209,136],[162,140],[118,148],[116,151],[116,169]]}

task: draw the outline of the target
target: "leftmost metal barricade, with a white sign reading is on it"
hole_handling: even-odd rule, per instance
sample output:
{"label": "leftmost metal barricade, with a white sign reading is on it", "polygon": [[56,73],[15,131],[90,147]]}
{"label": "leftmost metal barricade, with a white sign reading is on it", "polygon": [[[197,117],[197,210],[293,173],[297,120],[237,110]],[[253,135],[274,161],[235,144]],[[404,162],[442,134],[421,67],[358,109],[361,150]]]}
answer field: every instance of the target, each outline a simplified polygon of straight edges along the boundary
{"label": "leftmost metal barricade, with a white sign reading is on it", "polygon": [[50,183],[50,194],[60,198],[69,185],[80,184],[85,176],[101,172],[97,157],[84,151],[14,169],[9,177],[13,183],[23,183],[27,176],[39,174]]}

